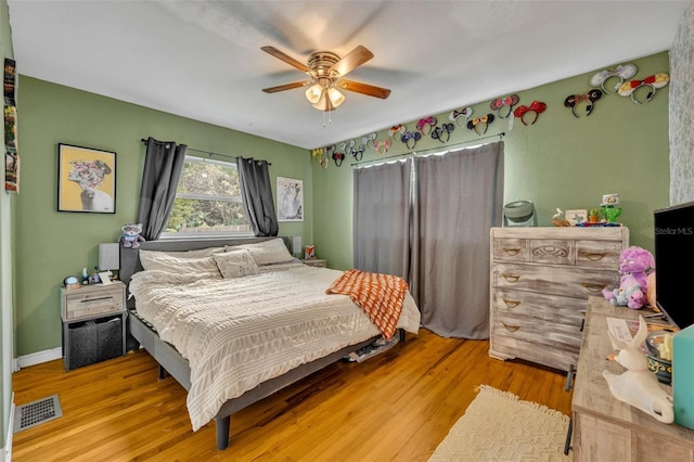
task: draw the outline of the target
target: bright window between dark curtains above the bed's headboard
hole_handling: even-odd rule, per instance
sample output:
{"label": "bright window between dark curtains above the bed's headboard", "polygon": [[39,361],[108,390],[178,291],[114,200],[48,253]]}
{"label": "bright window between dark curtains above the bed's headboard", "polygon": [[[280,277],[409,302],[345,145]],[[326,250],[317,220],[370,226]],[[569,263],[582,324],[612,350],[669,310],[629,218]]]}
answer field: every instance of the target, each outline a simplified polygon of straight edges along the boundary
{"label": "bright window between dark curtains above the bed's headboard", "polygon": [[163,238],[253,234],[236,165],[185,156]]}

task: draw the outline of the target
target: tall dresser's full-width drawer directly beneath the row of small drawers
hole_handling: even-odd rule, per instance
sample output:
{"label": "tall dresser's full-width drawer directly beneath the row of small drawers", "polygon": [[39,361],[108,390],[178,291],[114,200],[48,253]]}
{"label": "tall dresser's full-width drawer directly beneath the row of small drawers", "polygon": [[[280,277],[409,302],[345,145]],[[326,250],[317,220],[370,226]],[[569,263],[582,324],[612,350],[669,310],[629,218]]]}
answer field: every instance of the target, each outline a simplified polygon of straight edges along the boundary
{"label": "tall dresser's full-width drawer directly beneath the row of small drawers", "polygon": [[493,264],[491,285],[586,299],[591,295],[601,295],[603,288],[618,287],[619,274],[614,270],[579,267]]}

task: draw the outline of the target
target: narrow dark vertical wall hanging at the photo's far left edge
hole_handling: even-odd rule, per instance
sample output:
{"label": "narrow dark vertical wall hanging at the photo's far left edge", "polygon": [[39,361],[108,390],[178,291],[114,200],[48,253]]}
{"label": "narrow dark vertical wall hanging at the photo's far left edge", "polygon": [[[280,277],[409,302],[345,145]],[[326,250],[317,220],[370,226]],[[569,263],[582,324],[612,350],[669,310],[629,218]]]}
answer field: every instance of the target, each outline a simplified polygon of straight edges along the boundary
{"label": "narrow dark vertical wall hanging at the photo's far left edge", "polygon": [[4,190],[20,192],[20,154],[17,151],[16,63],[4,60]]}

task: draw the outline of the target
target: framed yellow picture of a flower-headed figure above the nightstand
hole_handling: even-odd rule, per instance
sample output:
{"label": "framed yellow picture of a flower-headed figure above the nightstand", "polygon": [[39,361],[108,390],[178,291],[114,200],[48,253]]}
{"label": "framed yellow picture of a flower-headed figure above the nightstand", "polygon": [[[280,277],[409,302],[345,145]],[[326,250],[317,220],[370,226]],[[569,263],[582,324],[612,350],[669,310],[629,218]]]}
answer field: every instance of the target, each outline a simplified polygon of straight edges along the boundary
{"label": "framed yellow picture of a flower-headed figure above the nightstand", "polygon": [[57,211],[116,213],[116,153],[57,145]]}

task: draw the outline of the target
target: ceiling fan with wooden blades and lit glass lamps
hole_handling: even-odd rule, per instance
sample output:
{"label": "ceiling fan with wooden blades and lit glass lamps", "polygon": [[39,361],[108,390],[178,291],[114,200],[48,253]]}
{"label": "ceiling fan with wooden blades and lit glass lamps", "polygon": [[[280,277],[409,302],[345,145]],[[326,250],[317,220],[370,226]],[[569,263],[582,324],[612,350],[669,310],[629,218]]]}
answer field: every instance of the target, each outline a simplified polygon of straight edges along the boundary
{"label": "ceiling fan with wooden blades and lit glass lamps", "polygon": [[264,88],[262,91],[266,93],[309,87],[306,90],[306,99],[313,107],[320,111],[333,111],[345,101],[345,95],[339,91],[340,89],[381,98],[383,100],[390,94],[390,90],[387,88],[374,87],[344,78],[345,75],[373,57],[373,53],[365,47],[359,46],[342,59],[330,51],[317,51],[308,57],[308,65],[296,61],[274,47],[261,47],[261,50],[296,67],[310,77],[310,80]]}

